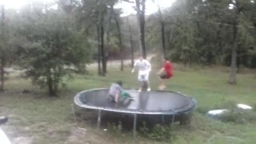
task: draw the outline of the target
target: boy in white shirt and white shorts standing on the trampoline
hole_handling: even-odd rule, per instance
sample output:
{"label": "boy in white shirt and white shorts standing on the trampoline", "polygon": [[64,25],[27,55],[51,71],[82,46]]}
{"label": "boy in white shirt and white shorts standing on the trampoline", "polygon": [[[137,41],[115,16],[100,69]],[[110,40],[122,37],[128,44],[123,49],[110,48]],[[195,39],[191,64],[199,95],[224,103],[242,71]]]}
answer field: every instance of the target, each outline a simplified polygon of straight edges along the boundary
{"label": "boy in white shirt and white shorts standing on the trampoline", "polygon": [[147,91],[150,91],[150,86],[149,86],[149,73],[151,71],[151,65],[148,62],[148,60],[143,59],[143,57],[140,57],[137,61],[135,61],[132,73],[134,73],[134,69],[138,68],[139,69],[139,74],[138,74],[138,81],[140,82],[140,89],[139,92],[142,90],[143,83],[145,82],[148,86]]}

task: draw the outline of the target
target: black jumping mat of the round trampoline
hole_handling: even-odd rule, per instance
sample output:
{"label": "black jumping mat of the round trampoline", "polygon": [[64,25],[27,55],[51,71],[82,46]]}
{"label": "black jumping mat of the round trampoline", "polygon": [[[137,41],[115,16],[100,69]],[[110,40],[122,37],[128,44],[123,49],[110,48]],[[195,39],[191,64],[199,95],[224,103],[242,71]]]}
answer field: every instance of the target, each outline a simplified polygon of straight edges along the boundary
{"label": "black jumping mat of the round trampoline", "polygon": [[140,111],[146,113],[166,113],[166,111],[186,111],[194,108],[191,99],[183,94],[168,91],[142,91],[126,90],[133,101],[115,103],[107,98],[108,89],[84,91],[76,95],[75,103],[82,107],[95,107],[115,109],[118,111]]}

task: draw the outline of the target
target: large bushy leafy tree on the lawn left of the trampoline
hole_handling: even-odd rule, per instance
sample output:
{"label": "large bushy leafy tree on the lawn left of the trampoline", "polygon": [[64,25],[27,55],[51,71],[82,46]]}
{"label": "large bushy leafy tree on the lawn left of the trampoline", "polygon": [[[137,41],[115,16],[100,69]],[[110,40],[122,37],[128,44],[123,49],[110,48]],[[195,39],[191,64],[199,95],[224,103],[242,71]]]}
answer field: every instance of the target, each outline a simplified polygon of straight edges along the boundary
{"label": "large bushy leafy tree on the lawn left of the trampoline", "polygon": [[55,96],[65,84],[64,77],[89,61],[91,50],[70,17],[60,9],[43,11],[42,7],[34,7],[29,15],[20,13],[26,19],[20,23],[20,35],[27,40],[22,50],[22,67],[34,84],[47,87],[49,95]]}

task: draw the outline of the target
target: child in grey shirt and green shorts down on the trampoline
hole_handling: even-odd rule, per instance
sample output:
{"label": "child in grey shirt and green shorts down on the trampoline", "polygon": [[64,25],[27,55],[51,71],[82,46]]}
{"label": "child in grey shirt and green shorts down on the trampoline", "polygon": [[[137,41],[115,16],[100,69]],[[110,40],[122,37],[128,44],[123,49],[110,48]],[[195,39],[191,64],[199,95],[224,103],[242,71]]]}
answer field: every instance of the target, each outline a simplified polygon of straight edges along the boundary
{"label": "child in grey shirt and green shorts down on the trampoline", "polygon": [[131,95],[123,90],[121,81],[111,84],[107,97],[116,103],[123,102],[125,99],[133,100]]}

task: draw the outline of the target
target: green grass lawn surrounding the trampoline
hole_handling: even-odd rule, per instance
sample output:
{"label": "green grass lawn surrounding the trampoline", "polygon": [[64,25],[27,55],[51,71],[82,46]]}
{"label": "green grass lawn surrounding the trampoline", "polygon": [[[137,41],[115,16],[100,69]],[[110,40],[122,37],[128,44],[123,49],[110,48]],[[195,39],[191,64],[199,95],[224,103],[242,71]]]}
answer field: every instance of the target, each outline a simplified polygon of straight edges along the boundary
{"label": "green grass lawn surrounding the trampoline", "polygon": [[[63,89],[58,98],[47,97],[44,90],[31,85],[30,81],[12,74],[6,82],[6,91],[0,93],[0,115],[8,115],[9,123],[2,129],[13,143],[165,143],[144,137],[135,141],[130,132],[113,131],[97,133],[95,125],[87,121],[74,121],[71,104],[74,95],[82,90],[108,87],[121,79],[124,87],[135,89],[137,75],[126,68],[108,71],[107,77],[98,77],[95,70],[91,75],[77,75]],[[227,84],[228,74],[220,70],[175,70],[174,77],[167,82],[167,90],[193,95],[197,108],[214,107],[225,101],[235,101],[256,106],[256,77],[254,74],[238,74],[237,85]],[[151,88],[157,89],[158,79],[151,73]],[[24,89],[29,93],[22,93]],[[256,123],[222,123],[207,118],[195,111],[190,126],[175,126],[172,143],[255,143]],[[223,137],[234,137],[244,142]]]}

